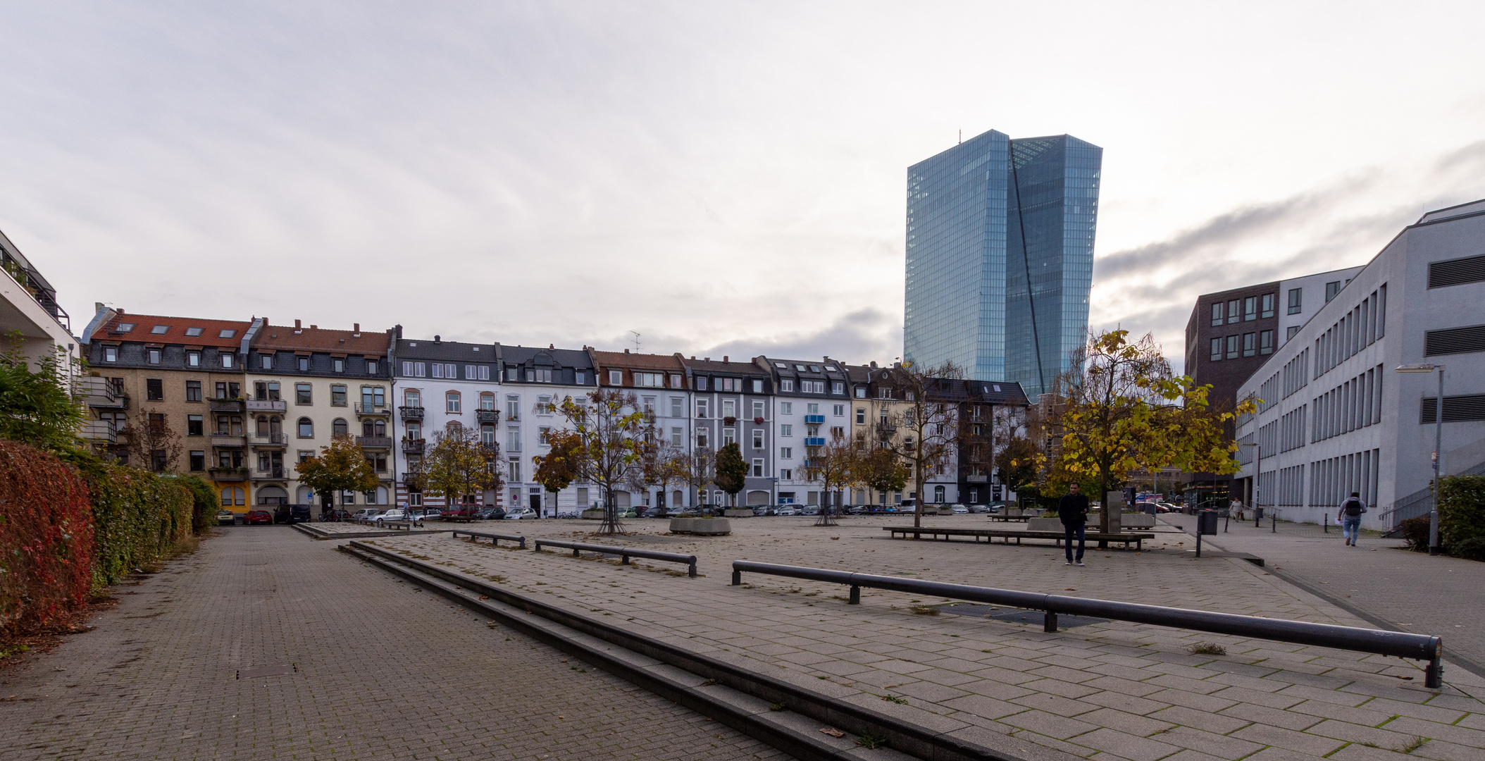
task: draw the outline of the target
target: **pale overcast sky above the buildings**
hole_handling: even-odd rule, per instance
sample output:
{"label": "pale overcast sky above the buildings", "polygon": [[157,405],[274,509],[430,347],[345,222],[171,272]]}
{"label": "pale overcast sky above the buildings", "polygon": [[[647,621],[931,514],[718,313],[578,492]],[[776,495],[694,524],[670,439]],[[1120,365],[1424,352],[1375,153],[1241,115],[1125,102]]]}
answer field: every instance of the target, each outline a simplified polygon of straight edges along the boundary
{"label": "pale overcast sky above the buildings", "polygon": [[1103,147],[1091,320],[1485,198],[1482,3],[3,3],[0,229],[131,312],[901,354],[907,165]]}

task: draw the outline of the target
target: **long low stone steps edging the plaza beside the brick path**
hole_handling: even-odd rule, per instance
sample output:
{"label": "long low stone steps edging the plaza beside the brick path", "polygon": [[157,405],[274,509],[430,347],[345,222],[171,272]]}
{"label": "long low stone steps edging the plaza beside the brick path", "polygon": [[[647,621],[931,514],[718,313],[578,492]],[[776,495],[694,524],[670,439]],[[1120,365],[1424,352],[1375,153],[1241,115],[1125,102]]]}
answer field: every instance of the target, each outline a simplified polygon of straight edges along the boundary
{"label": "long low stone steps edging the plaza beside the brick path", "polygon": [[[352,541],[342,544],[339,550],[376,565],[383,571],[396,574],[431,592],[437,592],[466,608],[490,615],[527,636],[720,721],[748,737],[768,743],[796,758],[873,758],[881,761],[890,758],[884,755],[882,749],[872,751],[872,755],[866,757],[861,755],[866,751],[854,748],[854,742],[845,742],[842,746],[843,740],[830,742],[823,734],[815,737],[817,733],[814,728],[817,728],[817,722],[839,727],[854,736],[885,736],[887,746],[891,751],[933,761],[1071,761],[1077,758],[1060,751],[980,730],[973,725],[956,731],[973,733],[974,740],[931,730],[849,700],[817,693],[710,655],[677,648],[627,629],[508,592],[499,586],[486,584],[477,578],[454,574],[411,557],[402,557],[380,547]],[[490,602],[463,595],[460,589],[489,596]],[[523,611],[523,614],[517,615],[511,612],[511,608]],[[538,618],[533,620],[532,615]],[[622,651],[615,652],[612,648],[604,648],[604,644],[618,645]],[[644,661],[655,663],[655,667],[637,666],[634,663],[636,655]],[[676,675],[674,669],[680,669],[685,673]],[[701,687],[705,688],[702,690]],[[726,688],[738,693],[738,699],[726,700],[726,696],[720,691]],[[768,709],[769,703],[783,705],[789,710],[772,712]],[[763,707],[759,710],[756,706]],[[995,746],[990,746],[990,743]]]}

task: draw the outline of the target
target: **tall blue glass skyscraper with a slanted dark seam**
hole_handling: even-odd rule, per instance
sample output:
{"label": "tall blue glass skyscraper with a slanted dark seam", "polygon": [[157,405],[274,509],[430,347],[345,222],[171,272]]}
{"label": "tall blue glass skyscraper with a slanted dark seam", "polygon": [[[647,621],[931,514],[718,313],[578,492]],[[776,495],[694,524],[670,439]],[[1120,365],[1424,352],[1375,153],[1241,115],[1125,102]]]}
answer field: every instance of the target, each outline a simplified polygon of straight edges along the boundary
{"label": "tall blue glass skyscraper with a slanted dark seam", "polygon": [[1050,391],[1087,339],[1102,163],[992,129],[910,166],[903,358]]}

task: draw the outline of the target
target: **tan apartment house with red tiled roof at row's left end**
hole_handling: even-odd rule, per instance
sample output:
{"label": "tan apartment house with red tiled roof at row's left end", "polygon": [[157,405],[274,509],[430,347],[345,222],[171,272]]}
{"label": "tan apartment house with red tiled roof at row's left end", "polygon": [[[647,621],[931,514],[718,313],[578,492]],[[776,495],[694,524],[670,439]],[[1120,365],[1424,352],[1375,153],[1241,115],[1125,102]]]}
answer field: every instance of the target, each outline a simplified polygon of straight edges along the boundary
{"label": "tan apartment house with red tiled roof at row's left end", "polygon": [[154,473],[200,476],[223,507],[251,504],[242,357],[254,323],[99,305],[94,324],[80,385],[95,452]]}

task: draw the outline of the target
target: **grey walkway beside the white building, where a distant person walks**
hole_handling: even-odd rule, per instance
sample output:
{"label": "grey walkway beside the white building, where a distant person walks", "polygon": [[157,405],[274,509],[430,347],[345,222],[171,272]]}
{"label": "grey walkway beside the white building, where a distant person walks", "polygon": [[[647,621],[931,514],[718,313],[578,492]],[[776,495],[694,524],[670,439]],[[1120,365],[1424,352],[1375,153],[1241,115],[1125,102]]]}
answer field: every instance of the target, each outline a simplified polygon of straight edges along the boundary
{"label": "grey walkway beside the white building, where a distant person walks", "polygon": [[[1195,516],[1160,519],[1195,534]],[[1375,535],[1347,547],[1339,526],[1329,534],[1308,525],[1280,523],[1279,529],[1271,532],[1268,522],[1258,529],[1252,522],[1233,522],[1225,534],[1219,525],[1216,537],[1203,537],[1201,545],[1256,554],[1310,592],[1356,608],[1374,626],[1439,635],[1446,657],[1485,676],[1485,563],[1430,557],[1405,550],[1402,540]]]}

